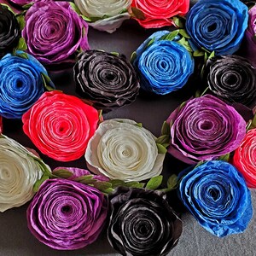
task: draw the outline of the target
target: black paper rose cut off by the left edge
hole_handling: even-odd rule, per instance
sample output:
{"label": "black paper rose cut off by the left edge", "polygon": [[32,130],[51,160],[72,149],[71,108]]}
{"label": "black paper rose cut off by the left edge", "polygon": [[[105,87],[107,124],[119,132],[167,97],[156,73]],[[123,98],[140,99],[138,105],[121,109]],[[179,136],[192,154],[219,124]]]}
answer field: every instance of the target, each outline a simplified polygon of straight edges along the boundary
{"label": "black paper rose cut off by the left edge", "polygon": [[11,52],[20,39],[20,26],[15,15],[0,4],[0,58]]}

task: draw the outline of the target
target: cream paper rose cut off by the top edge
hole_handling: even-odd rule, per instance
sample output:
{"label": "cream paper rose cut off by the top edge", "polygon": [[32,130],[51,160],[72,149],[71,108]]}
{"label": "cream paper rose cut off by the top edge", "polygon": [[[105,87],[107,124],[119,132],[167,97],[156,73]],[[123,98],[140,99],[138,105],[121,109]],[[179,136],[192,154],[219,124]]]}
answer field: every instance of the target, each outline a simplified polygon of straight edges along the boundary
{"label": "cream paper rose cut off by the top edge", "polygon": [[75,0],[74,3],[89,25],[100,31],[114,32],[124,20],[130,19],[132,0]]}

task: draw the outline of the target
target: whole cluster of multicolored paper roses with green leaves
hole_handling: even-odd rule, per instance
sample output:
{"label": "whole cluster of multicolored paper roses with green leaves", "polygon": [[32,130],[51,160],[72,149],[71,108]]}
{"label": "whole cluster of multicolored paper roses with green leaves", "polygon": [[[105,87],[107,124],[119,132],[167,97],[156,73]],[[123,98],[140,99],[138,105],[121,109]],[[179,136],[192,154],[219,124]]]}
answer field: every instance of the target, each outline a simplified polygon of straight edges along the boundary
{"label": "whole cluster of multicolored paper roses with green leaves", "polygon": [[[108,223],[108,241],[123,255],[166,255],[177,244],[183,224],[166,200],[172,189],[213,235],[247,228],[253,216],[247,187],[256,188],[255,5],[1,2],[1,133],[2,117],[21,119],[42,154],[63,162],[84,155],[90,170],[52,171],[32,149],[2,134],[1,212],[32,200],[29,230],[60,250],[89,245]],[[131,61],[90,49],[88,25],[113,32],[130,17],[146,28],[178,29],[154,32]],[[55,90],[47,70],[67,67],[83,99]],[[191,79],[201,86],[166,119],[160,137],[131,119],[102,119],[102,110],[135,101],[139,90],[166,95]],[[166,152],[189,167],[164,189]]]}

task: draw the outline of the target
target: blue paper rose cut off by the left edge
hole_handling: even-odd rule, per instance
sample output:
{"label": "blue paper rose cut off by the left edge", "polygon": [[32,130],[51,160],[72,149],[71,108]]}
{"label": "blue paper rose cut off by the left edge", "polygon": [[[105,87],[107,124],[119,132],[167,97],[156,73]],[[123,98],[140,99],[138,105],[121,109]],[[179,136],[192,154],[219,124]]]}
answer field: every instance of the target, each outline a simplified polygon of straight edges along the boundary
{"label": "blue paper rose cut off by the left edge", "polygon": [[3,56],[0,78],[0,115],[7,119],[20,119],[45,90],[54,88],[43,65],[21,51]]}

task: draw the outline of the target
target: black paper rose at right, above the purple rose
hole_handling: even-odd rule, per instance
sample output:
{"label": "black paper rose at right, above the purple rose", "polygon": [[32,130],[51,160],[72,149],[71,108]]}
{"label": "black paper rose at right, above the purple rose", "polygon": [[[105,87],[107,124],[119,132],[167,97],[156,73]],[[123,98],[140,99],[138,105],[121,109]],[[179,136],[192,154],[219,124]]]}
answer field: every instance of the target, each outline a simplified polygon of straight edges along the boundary
{"label": "black paper rose at right, above the purple rose", "polygon": [[212,94],[227,102],[256,105],[256,68],[237,55],[222,55],[208,59],[205,83]]}

